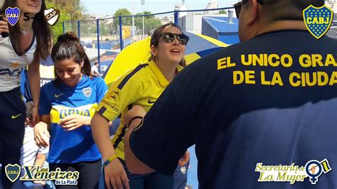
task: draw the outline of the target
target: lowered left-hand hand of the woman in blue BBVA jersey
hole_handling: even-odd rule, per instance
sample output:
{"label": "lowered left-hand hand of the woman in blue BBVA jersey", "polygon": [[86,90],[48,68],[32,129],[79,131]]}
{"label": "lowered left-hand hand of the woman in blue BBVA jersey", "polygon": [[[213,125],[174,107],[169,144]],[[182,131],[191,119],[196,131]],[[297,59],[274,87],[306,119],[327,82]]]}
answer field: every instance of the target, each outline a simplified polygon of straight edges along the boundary
{"label": "lowered left-hand hand of the woman in blue BBVA jersey", "polygon": [[36,145],[39,147],[48,147],[49,146],[50,134],[47,129],[47,124],[45,122],[38,122],[34,126],[34,140]]}

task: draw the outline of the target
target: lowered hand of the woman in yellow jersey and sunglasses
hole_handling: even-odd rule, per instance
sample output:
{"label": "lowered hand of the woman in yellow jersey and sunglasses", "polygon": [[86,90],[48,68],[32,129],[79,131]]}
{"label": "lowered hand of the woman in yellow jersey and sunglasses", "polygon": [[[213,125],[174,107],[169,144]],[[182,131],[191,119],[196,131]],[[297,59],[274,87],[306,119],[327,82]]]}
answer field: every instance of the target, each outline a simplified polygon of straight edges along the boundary
{"label": "lowered hand of the woman in yellow jersey and sunglasses", "polygon": [[114,158],[114,160],[105,166],[104,175],[105,185],[108,189],[111,189],[112,187],[114,189],[130,188],[127,173],[118,158]]}

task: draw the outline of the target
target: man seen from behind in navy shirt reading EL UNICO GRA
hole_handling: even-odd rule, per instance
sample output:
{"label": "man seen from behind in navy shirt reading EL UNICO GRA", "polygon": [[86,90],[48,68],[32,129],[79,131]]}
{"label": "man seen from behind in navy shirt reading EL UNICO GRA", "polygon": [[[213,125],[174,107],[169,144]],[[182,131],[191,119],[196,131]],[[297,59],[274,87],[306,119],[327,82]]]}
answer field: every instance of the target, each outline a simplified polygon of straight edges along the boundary
{"label": "man seen from behind in navy shirt reading EL UNICO GRA", "polygon": [[307,31],[310,4],[235,6],[242,43],[179,73],[128,131],[129,170],[171,174],[196,144],[200,188],[337,188],[337,41]]}

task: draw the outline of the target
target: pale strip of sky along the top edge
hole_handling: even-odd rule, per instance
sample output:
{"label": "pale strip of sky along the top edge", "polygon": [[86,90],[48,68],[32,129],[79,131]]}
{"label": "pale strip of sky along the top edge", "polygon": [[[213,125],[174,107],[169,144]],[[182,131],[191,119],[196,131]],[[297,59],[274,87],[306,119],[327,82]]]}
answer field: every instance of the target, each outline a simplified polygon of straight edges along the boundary
{"label": "pale strip of sky along the top edge", "polygon": [[[134,1],[134,13],[141,12],[141,0]],[[151,13],[159,13],[173,11],[174,5],[181,4],[181,0],[144,0],[144,11]],[[205,9],[210,0],[186,0],[186,9]],[[231,6],[237,0],[221,0],[217,1],[219,8]],[[117,9],[127,8],[132,11],[132,0],[81,0],[88,13],[98,15],[114,14]]]}

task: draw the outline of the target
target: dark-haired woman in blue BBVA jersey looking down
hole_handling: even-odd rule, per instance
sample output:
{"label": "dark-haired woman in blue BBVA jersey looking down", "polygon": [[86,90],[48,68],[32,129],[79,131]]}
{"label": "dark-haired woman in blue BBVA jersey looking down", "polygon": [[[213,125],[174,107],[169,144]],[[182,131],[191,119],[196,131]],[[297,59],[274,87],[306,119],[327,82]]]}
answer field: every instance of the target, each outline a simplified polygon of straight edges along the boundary
{"label": "dark-haired woman in blue BBVA jersey looking down", "polygon": [[[107,85],[90,75],[89,59],[74,33],[58,37],[51,58],[56,78],[41,89],[36,143],[50,146],[50,171],[78,171],[75,188],[98,188],[102,156],[92,139],[90,121]],[[50,144],[44,140],[46,136],[50,136]]]}

